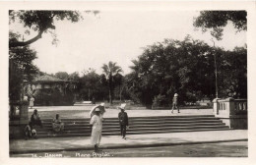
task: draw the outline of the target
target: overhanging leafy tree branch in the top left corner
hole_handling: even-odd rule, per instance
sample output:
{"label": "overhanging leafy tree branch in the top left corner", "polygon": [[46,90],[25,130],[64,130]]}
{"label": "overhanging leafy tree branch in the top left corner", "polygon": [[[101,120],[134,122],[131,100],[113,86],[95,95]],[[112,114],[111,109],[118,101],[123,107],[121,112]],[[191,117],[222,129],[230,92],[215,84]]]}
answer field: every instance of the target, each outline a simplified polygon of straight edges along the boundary
{"label": "overhanging leafy tree branch in the top left corner", "polygon": [[[98,11],[86,11],[86,13],[94,13]],[[52,29],[55,29],[54,22],[68,20],[71,23],[77,23],[83,19],[82,13],[79,11],[36,11],[36,10],[20,10],[9,11],[9,23],[20,22],[27,27],[26,33],[31,31],[37,32],[35,36],[26,41],[9,39],[9,47],[25,46],[35,42],[41,38],[42,33],[50,32],[53,36],[53,42],[56,41],[56,35]]]}

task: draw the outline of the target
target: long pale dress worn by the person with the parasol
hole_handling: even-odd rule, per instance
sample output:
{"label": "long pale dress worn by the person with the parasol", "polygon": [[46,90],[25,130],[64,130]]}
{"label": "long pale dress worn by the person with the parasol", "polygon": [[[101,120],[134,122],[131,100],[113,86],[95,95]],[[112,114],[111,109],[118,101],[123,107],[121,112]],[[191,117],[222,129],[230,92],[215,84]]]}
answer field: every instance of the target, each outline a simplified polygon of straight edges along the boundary
{"label": "long pale dress worn by the person with the parasol", "polygon": [[101,139],[101,131],[102,131],[102,121],[103,118],[101,115],[94,115],[90,121],[90,124],[93,125],[91,143],[93,145],[99,144]]}

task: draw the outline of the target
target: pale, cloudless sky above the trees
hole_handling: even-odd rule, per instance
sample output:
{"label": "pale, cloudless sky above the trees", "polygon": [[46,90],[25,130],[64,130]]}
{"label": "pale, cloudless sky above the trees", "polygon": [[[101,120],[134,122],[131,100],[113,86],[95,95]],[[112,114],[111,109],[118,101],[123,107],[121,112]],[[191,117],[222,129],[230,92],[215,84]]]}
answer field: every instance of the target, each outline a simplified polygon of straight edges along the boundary
{"label": "pale, cloudless sky above the trees", "polygon": [[[55,22],[55,33],[59,40],[53,45],[50,33],[31,44],[37,52],[34,64],[48,74],[57,72],[83,72],[89,68],[102,73],[102,65],[116,62],[128,74],[131,62],[143,53],[143,47],[161,42],[164,38],[183,40],[187,34],[213,45],[210,32],[203,33],[193,27],[193,19],[198,11],[100,11],[96,16],[85,15],[84,20],[72,24],[68,21]],[[21,25],[11,25],[10,29],[23,31]],[[25,35],[25,39],[32,37]],[[224,37],[215,41],[216,46],[232,50],[244,46],[246,32],[236,32],[228,24],[224,27]]]}

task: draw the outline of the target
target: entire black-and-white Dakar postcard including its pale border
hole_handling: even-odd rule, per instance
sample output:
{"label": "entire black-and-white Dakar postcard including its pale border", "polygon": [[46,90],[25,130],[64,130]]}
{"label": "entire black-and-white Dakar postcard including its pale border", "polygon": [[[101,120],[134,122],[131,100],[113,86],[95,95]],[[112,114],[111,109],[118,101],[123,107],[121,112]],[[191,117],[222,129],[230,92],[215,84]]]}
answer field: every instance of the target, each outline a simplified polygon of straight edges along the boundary
{"label": "entire black-and-white Dakar postcard including its pale border", "polygon": [[4,15],[9,159],[249,158],[255,7],[25,4]]}

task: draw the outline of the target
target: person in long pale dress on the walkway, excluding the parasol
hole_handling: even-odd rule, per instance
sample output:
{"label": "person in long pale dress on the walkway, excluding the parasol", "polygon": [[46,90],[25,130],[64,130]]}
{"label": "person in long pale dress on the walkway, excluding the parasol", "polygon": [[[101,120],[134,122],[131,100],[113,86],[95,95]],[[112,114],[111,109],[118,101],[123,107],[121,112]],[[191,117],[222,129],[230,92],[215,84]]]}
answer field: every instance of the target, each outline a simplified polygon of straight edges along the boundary
{"label": "person in long pale dress on the walkway, excluding the parasol", "polygon": [[99,108],[96,108],[95,115],[92,117],[90,121],[90,125],[92,128],[92,136],[91,143],[95,146],[95,151],[99,151],[99,143],[101,140],[101,132],[102,132],[102,115],[100,114]]}

